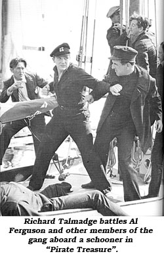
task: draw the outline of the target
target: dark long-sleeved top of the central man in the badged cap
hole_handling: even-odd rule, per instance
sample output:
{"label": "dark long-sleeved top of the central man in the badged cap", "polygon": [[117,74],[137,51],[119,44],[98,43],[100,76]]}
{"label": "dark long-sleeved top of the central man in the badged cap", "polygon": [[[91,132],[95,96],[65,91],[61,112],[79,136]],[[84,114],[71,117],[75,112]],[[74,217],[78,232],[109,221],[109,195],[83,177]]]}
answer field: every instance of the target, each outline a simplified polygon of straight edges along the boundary
{"label": "dark long-sleeved top of the central man in the badged cap", "polygon": [[85,70],[73,64],[70,64],[58,81],[58,70],[54,66],[53,90],[56,93],[59,106],[62,106],[68,114],[78,114],[85,110],[84,96],[86,87],[91,90],[94,89],[97,93],[106,94],[110,85],[106,82],[98,81],[87,74]]}

